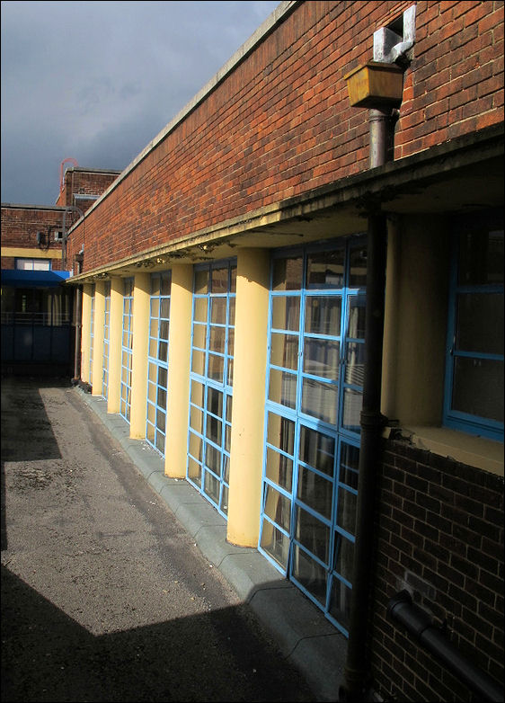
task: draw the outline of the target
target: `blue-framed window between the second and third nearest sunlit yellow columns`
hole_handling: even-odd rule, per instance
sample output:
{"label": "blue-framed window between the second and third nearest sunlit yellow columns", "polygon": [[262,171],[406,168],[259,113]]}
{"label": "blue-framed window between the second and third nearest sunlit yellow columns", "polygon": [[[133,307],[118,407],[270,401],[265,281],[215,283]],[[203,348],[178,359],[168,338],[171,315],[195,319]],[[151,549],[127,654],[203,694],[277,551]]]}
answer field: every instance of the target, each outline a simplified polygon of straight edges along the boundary
{"label": "blue-framed window between the second and third nearest sunlit yellow columns", "polygon": [[172,273],[151,274],[146,440],[164,457]]}

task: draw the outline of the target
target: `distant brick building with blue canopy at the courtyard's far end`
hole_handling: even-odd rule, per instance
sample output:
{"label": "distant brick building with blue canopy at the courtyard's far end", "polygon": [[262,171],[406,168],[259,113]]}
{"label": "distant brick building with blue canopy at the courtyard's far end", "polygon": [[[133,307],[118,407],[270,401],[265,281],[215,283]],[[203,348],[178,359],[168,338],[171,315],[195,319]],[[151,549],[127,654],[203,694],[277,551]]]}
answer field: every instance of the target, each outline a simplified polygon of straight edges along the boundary
{"label": "distant brick building with blue canopy at the courtyard's far end", "polygon": [[66,231],[119,171],[68,168],[55,206],[2,203],[2,369],[71,373],[73,289]]}

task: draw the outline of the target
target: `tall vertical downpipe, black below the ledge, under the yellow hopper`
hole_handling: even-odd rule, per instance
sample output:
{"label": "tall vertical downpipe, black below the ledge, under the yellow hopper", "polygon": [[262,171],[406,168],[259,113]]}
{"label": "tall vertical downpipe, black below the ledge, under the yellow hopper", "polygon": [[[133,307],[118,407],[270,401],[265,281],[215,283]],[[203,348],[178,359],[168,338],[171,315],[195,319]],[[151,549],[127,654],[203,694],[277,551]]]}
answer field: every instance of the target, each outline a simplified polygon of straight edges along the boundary
{"label": "tall vertical downpipe, black below the ledge, under the yellow hopper", "polygon": [[[368,113],[370,134],[370,168],[384,165],[392,158],[389,148],[391,109],[377,105]],[[386,214],[380,202],[368,213],[367,303],[365,319],[365,372],[363,405],[360,416],[358,505],[356,544],[350,600],[349,642],[344,669],[345,685],[339,700],[367,699],[370,669],[368,663],[368,614],[372,582],[374,508],[377,463],[385,418],[380,412],[382,385],[382,347],[384,338],[385,260],[387,245]]]}

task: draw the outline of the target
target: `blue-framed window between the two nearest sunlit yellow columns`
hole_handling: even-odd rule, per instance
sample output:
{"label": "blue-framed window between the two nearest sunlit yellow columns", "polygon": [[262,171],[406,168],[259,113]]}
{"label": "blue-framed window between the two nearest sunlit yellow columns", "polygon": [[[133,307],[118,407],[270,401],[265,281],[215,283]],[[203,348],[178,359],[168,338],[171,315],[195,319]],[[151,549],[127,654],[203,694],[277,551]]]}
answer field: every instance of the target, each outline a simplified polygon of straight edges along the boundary
{"label": "blue-framed window between the two nearest sunlit yellow columns", "polygon": [[195,266],[188,481],[228,512],[235,334],[235,260]]}

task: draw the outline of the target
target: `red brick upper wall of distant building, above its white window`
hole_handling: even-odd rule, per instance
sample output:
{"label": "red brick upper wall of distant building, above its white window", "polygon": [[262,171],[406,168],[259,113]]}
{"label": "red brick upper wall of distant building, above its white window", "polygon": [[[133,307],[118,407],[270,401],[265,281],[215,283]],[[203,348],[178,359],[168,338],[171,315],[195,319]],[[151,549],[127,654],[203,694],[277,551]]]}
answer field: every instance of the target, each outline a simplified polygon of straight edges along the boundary
{"label": "red brick upper wall of distant building, above its white window", "polygon": [[[53,255],[53,269],[61,270],[61,244],[54,241],[54,233],[61,231],[61,209],[5,208],[2,207],[2,247],[13,246],[48,251]],[[44,244],[37,244],[37,232],[42,232]],[[49,238],[49,246],[48,245]],[[32,254],[29,254],[33,258]],[[40,256],[40,258],[45,258]],[[13,269],[13,257],[2,257],[2,268]]]}

